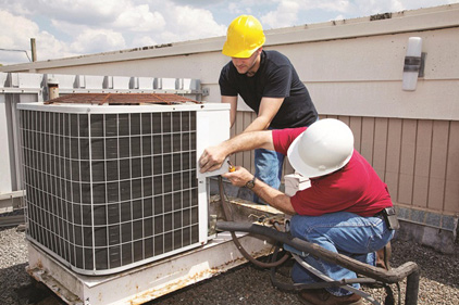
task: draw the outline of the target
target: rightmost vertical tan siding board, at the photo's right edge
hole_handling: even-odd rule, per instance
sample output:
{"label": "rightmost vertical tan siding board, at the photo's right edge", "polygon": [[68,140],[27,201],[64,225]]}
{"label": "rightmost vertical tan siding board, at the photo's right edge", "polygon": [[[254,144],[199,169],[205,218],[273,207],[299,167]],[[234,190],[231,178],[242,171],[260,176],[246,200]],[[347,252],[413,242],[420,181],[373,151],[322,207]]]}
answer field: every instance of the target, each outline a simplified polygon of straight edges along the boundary
{"label": "rightmost vertical tan siding board, at the photo's right edge", "polygon": [[443,211],[459,213],[459,122],[449,128],[448,158],[446,164],[445,203]]}

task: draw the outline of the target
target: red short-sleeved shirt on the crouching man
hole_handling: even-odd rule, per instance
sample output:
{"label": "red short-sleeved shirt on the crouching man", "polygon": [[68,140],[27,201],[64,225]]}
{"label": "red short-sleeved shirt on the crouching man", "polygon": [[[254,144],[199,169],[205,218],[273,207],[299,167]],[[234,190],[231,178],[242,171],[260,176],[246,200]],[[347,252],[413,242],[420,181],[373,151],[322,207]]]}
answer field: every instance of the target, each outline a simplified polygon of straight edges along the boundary
{"label": "red short-sleeved shirt on the crouching man", "polygon": [[[273,130],[275,151],[287,155],[291,142],[305,130],[306,127]],[[356,150],[345,167],[310,180],[310,188],[290,198],[299,215],[319,216],[345,211],[368,217],[393,205],[386,183]]]}

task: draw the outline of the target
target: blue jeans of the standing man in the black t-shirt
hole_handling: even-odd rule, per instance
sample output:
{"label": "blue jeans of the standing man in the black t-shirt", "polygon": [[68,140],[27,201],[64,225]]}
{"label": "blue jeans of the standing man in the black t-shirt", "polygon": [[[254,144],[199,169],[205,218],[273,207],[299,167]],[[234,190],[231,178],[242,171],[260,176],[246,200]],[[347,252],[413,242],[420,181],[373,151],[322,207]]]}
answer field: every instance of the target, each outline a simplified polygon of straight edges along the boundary
{"label": "blue jeans of the standing man in the black t-shirt", "polygon": [[[255,150],[255,176],[276,190],[281,187],[283,164],[282,153],[264,149]],[[260,203],[260,199],[255,193],[253,202]]]}

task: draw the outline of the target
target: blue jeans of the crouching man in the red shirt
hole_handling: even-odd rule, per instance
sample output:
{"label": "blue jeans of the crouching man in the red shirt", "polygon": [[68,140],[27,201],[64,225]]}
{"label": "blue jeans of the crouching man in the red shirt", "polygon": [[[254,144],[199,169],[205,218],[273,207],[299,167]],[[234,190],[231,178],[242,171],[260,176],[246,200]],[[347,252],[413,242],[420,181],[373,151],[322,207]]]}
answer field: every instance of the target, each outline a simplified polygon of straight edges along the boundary
{"label": "blue jeans of the crouching man in the red shirt", "polygon": [[[322,216],[295,215],[290,225],[291,236],[372,266],[375,266],[375,251],[384,247],[394,237],[394,230],[387,228],[383,217],[361,217],[348,212]],[[302,259],[334,280],[357,278],[356,272],[318,257],[308,255]],[[297,263],[291,269],[291,279],[297,283],[321,281]],[[360,288],[358,283],[352,285]],[[328,288],[327,291],[337,296],[350,294],[340,288]]]}

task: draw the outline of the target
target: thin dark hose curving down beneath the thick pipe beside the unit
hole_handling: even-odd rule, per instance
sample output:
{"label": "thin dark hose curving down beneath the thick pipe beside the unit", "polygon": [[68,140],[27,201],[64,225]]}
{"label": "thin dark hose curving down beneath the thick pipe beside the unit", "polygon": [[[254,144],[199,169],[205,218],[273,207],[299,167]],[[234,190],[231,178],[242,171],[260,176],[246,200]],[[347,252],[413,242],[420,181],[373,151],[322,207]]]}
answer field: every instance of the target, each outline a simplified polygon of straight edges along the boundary
{"label": "thin dark hose curving down beneath the thick pipe beside the unit", "polygon": [[[223,207],[223,215],[225,216],[225,219],[228,221],[233,221],[233,215],[230,211],[230,204],[226,201],[226,196],[225,196],[225,191],[223,189],[223,179],[222,176],[219,176],[219,189],[220,189],[220,200],[222,202],[222,207]],[[219,223],[218,223],[219,224]],[[216,225],[219,226],[219,225]],[[250,263],[255,264],[256,266],[260,267],[260,268],[273,268],[273,267],[277,267],[281,266],[282,264],[284,264],[289,257],[290,255],[286,252],[285,255],[276,260],[276,262],[272,262],[272,263],[263,263],[258,260],[257,258],[255,258],[253,256],[251,256],[240,244],[239,240],[237,239],[236,234],[234,233],[234,231],[230,231],[231,232],[231,237],[233,239],[234,244],[236,245],[237,250],[239,250],[240,254],[243,254],[243,256],[249,260]]]}

